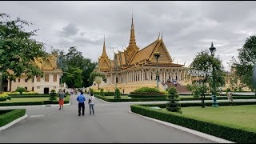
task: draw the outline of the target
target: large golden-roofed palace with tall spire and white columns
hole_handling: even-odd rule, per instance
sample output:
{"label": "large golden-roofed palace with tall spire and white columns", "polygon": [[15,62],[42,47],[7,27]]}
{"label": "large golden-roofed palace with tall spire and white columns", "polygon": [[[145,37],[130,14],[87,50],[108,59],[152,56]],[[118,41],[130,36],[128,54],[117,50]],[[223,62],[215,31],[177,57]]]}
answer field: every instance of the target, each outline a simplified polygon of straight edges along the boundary
{"label": "large golden-roofed palace with tall spire and white columns", "polygon": [[[154,57],[156,52],[161,54],[158,62]],[[160,34],[148,46],[141,50],[138,48],[133,18],[131,19],[129,46],[123,51],[114,53],[113,60],[106,54],[104,38],[102,55],[98,58],[96,68],[96,71],[106,75],[106,80],[99,85],[104,91],[114,91],[115,86],[117,86],[122,93],[127,94],[144,86],[157,87],[157,70],[159,90],[165,90],[174,81],[178,82],[178,87],[182,88],[183,86],[182,89],[178,88],[178,90],[184,90],[186,83],[191,82],[191,78],[187,76],[187,68],[182,64],[173,62]],[[95,82],[89,88],[98,90]]]}

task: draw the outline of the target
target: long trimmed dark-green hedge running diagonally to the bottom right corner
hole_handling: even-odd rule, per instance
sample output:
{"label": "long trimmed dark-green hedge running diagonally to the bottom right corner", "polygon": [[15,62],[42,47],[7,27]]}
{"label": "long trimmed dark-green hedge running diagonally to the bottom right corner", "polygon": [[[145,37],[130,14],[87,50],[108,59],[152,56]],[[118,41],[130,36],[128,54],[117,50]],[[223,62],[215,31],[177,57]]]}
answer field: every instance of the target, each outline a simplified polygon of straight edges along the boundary
{"label": "long trimmed dark-green hedge running diagonally to the bottom right corner", "polygon": [[156,118],[165,122],[170,122],[178,126],[184,126],[202,133],[211,134],[218,138],[224,138],[232,142],[256,143],[256,132],[242,130],[235,126],[219,125],[217,122],[207,122],[202,119],[193,119],[182,114],[168,111],[155,110],[142,105],[131,105],[132,112],[150,118]]}

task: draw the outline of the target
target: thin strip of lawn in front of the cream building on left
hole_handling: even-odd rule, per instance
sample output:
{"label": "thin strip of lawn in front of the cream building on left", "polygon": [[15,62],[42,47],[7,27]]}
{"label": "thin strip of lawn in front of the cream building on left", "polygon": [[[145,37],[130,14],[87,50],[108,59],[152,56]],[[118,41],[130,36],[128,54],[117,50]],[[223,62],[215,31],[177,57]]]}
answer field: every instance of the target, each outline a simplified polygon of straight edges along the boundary
{"label": "thin strip of lawn in front of the cream building on left", "polygon": [[[64,99],[65,101],[68,101],[70,99],[70,95],[67,95]],[[42,101],[48,101],[49,97],[38,97],[38,98],[11,98],[10,101],[3,101],[0,103],[12,103],[12,102],[42,102]],[[58,101],[58,98],[57,100]]]}

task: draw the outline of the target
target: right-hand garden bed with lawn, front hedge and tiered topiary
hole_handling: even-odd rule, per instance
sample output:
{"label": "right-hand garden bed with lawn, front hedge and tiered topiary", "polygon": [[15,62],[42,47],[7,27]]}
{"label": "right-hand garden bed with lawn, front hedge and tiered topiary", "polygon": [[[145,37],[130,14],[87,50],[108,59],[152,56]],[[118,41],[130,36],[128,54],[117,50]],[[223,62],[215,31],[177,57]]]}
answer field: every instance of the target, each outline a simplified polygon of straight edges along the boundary
{"label": "right-hand garden bed with lawn, front hedge and tiered topiary", "polygon": [[130,109],[136,114],[198,130],[232,142],[256,142],[256,102],[223,102],[219,103],[218,107],[206,103],[202,106],[200,103],[179,103],[179,94],[175,88],[170,88],[168,93],[169,102],[165,104],[131,105]]}

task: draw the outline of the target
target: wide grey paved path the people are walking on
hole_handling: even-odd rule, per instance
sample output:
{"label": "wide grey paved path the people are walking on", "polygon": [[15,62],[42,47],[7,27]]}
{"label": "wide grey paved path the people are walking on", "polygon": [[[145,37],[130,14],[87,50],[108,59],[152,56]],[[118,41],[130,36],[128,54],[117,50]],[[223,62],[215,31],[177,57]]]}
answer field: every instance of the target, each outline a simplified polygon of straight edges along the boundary
{"label": "wide grey paved path the people are walking on", "polygon": [[95,115],[89,115],[86,103],[86,115],[78,117],[75,98],[76,95],[71,96],[71,104],[64,106],[64,110],[58,110],[58,106],[26,107],[28,116],[0,131],[0,142],[213,143],[206,138],[131,114],[130,103],[106,103],[96,98]]}

